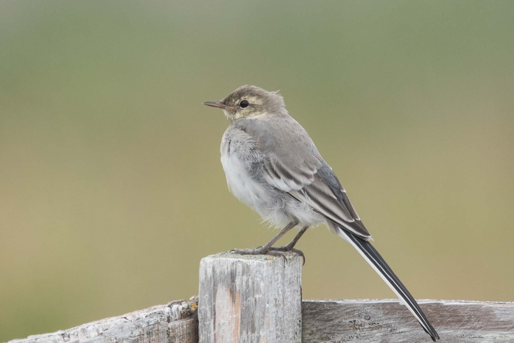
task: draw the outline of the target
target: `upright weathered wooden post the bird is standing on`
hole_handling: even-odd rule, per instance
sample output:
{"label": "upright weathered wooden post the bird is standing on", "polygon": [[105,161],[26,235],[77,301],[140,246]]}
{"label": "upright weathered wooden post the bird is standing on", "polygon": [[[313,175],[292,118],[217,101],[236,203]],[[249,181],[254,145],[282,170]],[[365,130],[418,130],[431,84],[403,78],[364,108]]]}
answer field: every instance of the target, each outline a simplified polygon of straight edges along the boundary
{"label": "upright weathered wooden post the bird is standing on", "polygon": [[302,258],[211,255],[200,261],[199,341],[302,340]]}

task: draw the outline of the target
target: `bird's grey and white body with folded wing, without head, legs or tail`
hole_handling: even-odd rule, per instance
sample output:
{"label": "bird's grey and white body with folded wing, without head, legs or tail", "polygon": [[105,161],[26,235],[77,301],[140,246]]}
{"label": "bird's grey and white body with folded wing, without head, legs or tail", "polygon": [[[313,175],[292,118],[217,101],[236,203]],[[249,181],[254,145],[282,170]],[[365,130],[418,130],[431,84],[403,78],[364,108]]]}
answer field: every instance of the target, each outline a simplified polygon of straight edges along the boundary
{"label": "bird's grey and white body with folded wing, without head, legs or tail", "polygon": [[[371,239],[332,168],[284,107],[272,116],[234,120],[223,135],[221,155],[231,191],[263,219],[282,227],[295,218],[302,226],[328,219]],[[251,191],[243,174],[255,183]]]}

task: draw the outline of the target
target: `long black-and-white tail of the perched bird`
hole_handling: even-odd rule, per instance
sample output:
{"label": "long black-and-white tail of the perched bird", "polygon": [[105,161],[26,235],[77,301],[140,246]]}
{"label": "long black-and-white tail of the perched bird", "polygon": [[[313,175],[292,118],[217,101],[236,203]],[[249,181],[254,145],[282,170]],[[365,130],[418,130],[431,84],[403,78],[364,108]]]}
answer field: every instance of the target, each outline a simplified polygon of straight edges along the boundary
{"label": "long black-and-white tail of the perched bird", "polygon": [[401,281],[398,279],[398,277],[393,273],[393,270],[388,266],[386,261],[378,254],[378,251],[371,245],[370,242],[365,241],[352,233],[338,228],[337,234],[343,238],[344,240],[350,242],[357,251],[360,252],[360,255],[368,263],[375,269],[375,271],[380,275],[380,277],[386,281],[386,283],[391,287],[391,290],[393,290],[396,295],[405,302],[405,305],[409,309],[409,311],[412,312],[414,317],[419,321],[421,324],[421,327],[425,330],[426,333],[432,337],[432,340],[435,342],[436,339],[439,339],[439,335],[437,332],[435,332],[434,327],[427,319],[427,316],[425,316],[425,313],[421,311],[419,308],[418,303],[412,295],[407,291],[407,288],[401,283]]}

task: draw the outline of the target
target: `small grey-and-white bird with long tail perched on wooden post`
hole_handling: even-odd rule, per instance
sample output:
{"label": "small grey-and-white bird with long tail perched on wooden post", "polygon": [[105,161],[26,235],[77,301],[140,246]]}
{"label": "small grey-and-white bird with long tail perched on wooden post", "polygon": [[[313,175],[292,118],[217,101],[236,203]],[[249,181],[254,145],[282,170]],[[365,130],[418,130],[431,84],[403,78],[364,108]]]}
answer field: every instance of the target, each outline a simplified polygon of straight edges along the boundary
{"label": "small grey-and-white bird with long tail perched on wooden post", "polygon": [[[280,91],[244,85],[219,101],[231,121],[222,137],[221,162],[230,191],[280,232],[258,248],[234,249],[241,255],[281,256],[293,251],[309,227],[326,224],[349,242],[405,303],[433,341],[439,335],[407,288],[371,245],[372,236],[362,223],[346,190],[325,162],[305,129],[285,108]],[[287,231],[300,227],[285,246],[273,246]]]}

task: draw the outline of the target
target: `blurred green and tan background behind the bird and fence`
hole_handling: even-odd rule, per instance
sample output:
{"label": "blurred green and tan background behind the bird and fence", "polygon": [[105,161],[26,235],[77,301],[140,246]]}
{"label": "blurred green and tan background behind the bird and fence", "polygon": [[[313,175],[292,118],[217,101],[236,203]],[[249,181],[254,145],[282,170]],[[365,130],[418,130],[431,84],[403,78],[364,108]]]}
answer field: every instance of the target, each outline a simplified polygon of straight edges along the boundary
{"label": "blurred green and tan background behind the bird and fence", "polygon": [[[229,122],[282,89],[416,298],[513,301],[514,2],[0,2],[0,341],[197,294],[276,231]],[[291,232],[283,239],[288,242]],[[394,298],[324,227],[304,298]]]}

